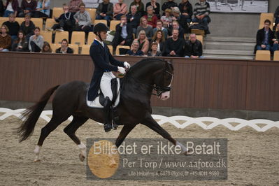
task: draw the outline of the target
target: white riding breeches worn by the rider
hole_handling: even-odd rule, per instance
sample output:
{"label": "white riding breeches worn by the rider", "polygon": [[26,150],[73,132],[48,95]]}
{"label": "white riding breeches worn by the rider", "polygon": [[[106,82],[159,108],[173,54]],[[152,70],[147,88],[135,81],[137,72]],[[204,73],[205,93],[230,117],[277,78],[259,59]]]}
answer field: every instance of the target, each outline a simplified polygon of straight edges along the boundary
{"label": "white riding breeches worn by the rider", "polygon": [[[103,73],[103,76],[101,76],[101,83],[100,88],[101,92],[103,92],[103,96],[110,99],[110,101],[113,101],[113,91],[111,91],[111,83],[110,80],[115,78],[112,72],[105,72]],[[120,83],[120,80],[117,79],[117,83]]]}

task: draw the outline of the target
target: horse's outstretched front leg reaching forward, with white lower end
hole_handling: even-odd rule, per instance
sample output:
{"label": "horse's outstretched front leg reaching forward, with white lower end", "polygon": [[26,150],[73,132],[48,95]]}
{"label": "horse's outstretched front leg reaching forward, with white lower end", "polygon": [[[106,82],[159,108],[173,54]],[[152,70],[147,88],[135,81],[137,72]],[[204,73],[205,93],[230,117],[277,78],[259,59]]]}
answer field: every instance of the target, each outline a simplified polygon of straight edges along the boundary
{"label": "horse's outstretched front leg reaching forward, with white lower end", "polygon": [[153,131],[156,131],[158,134],[163,136],[163,138],[166,138],[167,140],[171,141],[173,145],[180,146],[182,150],[182,154],[186,155],[189,150],[181,143],[179,143],[177,140],[175,140],[173,137],[171,137],[171,134],[169,134],[165,129],[163,129],[159,124],[152,118],[152,116],[148,116],[143,122],[141,122],[145,126],[149,127]]}

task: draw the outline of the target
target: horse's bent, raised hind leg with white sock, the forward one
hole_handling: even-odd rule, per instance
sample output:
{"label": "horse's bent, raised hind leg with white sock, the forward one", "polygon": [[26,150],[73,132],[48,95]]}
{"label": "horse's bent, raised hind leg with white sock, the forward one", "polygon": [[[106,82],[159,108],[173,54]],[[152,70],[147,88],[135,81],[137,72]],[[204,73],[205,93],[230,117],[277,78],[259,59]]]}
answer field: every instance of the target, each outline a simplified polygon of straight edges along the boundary
{"label": "horse's bent, raised hind leg with white sock, the forward one", "polygon": [[73,116],[73,121],[64,128],[64,132],[73,140],[73,142],[78,145],[78,148],[80,149],[80,161],[83,162],[85,160],[86,155],[86,147],[85,145],[80,142],[80,139],[76,136],[76,131],[80,126],[82,126],[86,121],[88,120],[88,117],[80,117],[80,116]]}

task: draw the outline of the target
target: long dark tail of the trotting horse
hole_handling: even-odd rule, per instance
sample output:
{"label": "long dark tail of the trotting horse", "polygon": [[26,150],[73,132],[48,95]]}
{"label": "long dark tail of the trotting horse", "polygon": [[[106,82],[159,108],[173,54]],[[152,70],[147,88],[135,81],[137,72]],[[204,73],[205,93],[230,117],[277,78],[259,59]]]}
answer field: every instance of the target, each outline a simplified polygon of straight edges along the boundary
{"label": "long dark tail of the trotting horse", "polygon": [[31,106],[24,110],[22,113],[22,118],[24,122],[17,128],[17,134],[20,136],[20,142],[26,140],[34,131],[38,117],[40,117],[45,108],[46,103],[50,99],[50,96],[57,90],[60,85],[50,88],[43,96],[41,96],[40,101],[38,101],[34,106]]}

